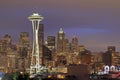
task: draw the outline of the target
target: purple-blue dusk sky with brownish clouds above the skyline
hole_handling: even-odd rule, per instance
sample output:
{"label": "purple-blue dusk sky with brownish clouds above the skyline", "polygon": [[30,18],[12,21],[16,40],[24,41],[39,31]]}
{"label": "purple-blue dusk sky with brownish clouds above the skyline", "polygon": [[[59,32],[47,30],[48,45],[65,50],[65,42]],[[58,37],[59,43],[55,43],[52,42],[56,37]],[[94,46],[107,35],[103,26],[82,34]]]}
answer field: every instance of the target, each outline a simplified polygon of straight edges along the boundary
{"label": "purple-blue dusk sky with brownish clouds above the skyline", "polygon": [[10,34],[17,43],[20,32],[29,32],[32,39],[28,16],[33,12],[44,17],[45,37],[57,36],[62,27],[66,38],[76,35],[91,51],[107,46],[120,51],[120,0],[1,0],[0,39]]}

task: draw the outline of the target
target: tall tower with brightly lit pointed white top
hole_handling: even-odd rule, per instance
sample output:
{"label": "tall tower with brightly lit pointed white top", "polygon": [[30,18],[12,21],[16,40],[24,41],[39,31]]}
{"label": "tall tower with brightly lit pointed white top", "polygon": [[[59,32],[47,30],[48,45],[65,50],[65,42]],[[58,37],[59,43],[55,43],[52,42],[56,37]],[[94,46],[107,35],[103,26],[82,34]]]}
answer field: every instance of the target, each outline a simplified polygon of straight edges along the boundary
{"label": "tall tower with brightly lit pointed white top", "polygon": [[57,52],[62,53],[64,52],[64,40],[65,40],[65,33],[62,28],[60,28],[57,36]]}

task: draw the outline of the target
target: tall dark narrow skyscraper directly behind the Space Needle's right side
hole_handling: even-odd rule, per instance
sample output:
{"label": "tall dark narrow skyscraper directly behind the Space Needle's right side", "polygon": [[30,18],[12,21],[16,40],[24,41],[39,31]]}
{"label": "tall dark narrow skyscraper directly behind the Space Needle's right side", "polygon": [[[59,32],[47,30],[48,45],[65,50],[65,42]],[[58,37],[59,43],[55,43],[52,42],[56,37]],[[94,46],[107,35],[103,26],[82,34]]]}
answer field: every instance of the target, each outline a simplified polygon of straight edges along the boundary
{"label": "tall dark narrow skyscraper directly behind the Space Needle's right side", "polygon": [[44,25],[39,24],[38,30],[38,43],[39,43],[39,56],[40,56],[40,64],[44,64],[43,57],[43,45],[44,45]]}

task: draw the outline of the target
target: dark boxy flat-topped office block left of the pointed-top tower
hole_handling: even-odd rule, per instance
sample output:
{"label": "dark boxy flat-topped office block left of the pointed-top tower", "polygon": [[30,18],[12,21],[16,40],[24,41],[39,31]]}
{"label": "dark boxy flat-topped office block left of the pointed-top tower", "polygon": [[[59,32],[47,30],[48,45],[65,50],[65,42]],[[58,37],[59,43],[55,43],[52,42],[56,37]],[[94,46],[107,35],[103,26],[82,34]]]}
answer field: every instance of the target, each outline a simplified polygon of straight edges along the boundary
{"label": "dark boxy flat-topped office block left of the pointed-top tower", "polygon": [[55,36],[47,37],[47,46],[52,52],[55,52]]}

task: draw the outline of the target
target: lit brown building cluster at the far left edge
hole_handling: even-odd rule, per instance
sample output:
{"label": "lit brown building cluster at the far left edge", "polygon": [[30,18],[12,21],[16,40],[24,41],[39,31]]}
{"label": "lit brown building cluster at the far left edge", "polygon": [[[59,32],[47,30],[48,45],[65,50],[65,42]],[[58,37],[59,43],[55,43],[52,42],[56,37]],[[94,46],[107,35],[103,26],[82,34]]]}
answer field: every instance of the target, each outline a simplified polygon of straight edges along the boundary
{"label": "lit brown building cluster at the far left edge", "polygon": [[6,34],[0,40],[0,71],[12,72],[16,69],[17,47],[12,44],[12,38]]}

